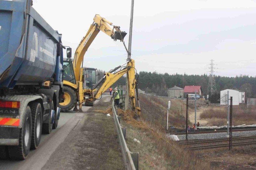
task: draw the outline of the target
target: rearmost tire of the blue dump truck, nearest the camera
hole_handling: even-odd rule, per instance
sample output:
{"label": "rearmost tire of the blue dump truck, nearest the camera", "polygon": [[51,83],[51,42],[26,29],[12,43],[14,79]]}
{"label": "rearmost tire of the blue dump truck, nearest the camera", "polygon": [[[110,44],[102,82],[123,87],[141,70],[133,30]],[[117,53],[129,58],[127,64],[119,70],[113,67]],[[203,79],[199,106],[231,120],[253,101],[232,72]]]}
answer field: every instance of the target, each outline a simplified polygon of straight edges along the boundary
{"label": "rearmost tire of the blue dump truck, nearest the camera", "polygon": [[29,154],[32,136],[32,116],[30,107],[27,106],[22,128],[20,128],[20,139],[18,146],[8,146],[11,159],[25,160]]}

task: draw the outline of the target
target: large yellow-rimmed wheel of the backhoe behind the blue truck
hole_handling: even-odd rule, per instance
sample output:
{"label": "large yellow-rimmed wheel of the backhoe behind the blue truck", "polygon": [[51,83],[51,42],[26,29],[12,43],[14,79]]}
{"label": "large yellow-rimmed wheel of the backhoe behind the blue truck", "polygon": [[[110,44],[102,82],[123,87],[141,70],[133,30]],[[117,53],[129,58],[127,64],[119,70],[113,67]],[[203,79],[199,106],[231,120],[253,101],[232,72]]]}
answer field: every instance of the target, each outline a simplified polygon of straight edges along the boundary
{"label": "large yellow-rimmed wheel of the backhoe behind the blue truck", "polygon": [[75,104],[77,103],[75,91],[67,86],[63,86],[63,92],[65,100],[62,103],[59,103],[61,112],[69,112]]}

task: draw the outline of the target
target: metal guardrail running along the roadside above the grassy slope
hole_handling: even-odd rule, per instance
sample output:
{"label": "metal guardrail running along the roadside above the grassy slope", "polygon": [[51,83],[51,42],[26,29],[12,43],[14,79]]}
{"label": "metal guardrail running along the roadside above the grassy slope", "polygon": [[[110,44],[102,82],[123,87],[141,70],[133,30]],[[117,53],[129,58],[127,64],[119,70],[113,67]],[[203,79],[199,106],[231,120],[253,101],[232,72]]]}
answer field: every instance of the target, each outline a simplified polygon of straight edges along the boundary
{"label": "metal guardrail running along the roadside above the grassy slope", "polygon": [[138,170],[139,169],[139,153],[130,152],[129,148],[126,145],[126,142],[125,142],[126,128],[122,128],[120,126],[120,122],[119,122],[120,118],[118,119],[117,117],[116,110],[114,107],[114,100],[112,102],[112,112],[113,112],[115,128],[116,128],[117,136],[119,139],[119,144],[120,144],[125,168],[127,170]]}

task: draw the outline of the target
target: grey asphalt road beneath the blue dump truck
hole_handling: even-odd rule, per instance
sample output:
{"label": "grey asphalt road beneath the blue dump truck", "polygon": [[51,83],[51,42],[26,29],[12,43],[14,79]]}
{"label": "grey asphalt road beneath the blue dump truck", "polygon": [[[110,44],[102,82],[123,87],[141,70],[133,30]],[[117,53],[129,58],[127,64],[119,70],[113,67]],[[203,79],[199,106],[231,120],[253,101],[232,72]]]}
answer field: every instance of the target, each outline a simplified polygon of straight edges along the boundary
{"label": "grey asphalt road beneath the blue dump truck", "polygon": [[[104,97],[109,96],[102,95],[102,98]],[[96,100],[95,103],[99,101]],[[86,112],[90,108],[88,106],[82,106],[83,112]],[[30,150],[26,160],[0,160],[0,170],[40,170],[83,116],[84,113],[73,111],[69,113],[61,112],[58,127],[49,135],[42,135],[39,147],[36,150]]]}

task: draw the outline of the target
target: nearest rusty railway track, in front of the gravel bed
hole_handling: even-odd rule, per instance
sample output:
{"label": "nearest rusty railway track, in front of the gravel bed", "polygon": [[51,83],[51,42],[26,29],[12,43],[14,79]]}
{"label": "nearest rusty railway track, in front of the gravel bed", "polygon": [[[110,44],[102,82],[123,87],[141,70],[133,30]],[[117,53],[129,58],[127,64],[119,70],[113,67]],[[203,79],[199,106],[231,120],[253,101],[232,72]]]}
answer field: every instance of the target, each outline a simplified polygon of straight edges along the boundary
{"label": "nearest rusty railway track, in front of the gravel bed", "polygon": [[[241,142],[233,142],[241,141]],[[207,144],[210,143],[210,144]],[[184,145],[184,148],[189,150],[201,150],[201,149],[214,149],[223,148],[229,146],[229,138],[223,139],[206,139],[206,140],[195,140],[195,141],[181,141],[179,145]],[[207,144],[207,145],[204,145]],[[232,138],[232,146],[240,145],[253,145],[256,144],[256,136],[240,136]],[[193,146],[190,146],[193,145]],[[194,146],[197,145],[197,146]]]}

